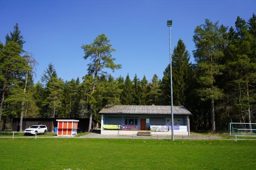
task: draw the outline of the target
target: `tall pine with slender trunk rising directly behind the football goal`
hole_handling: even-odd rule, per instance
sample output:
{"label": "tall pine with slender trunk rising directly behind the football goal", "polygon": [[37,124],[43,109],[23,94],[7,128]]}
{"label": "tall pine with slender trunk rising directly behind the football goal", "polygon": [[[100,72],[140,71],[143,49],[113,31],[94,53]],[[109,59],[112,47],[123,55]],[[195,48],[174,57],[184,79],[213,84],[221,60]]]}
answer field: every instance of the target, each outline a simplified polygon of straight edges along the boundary
{"label": "tall pine with slender trunk rising directly behind the football goal", "polygon": [[251,103],[255,102],[255,99],[253,93],[251,94],[253,89],[249,86],[253,84],[253,79],[256,77],[256,63],[251,50],[253,36],[249,33],[245,20],[240,17],[237,17],[236,20],[236,34],[236,41],[233,42],[235,47],[234,60],[229,62],[229,66],[232,74],[236,77],[234,82],[239,87],[239,103],[237,106],[240,108],[242,116],[244,108],[247,108],[248,123],[251,123]]}

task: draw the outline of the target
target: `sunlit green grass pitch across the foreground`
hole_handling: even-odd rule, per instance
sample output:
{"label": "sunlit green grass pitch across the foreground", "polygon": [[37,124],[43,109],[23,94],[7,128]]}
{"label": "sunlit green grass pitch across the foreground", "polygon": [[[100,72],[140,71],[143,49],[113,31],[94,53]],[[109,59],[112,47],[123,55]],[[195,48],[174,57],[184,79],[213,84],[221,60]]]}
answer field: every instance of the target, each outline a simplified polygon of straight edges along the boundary
{"label": "sunlit green grass pitch across the foreground", "polygon": [[256,141],[0,139],[2,170],[253,170]]}

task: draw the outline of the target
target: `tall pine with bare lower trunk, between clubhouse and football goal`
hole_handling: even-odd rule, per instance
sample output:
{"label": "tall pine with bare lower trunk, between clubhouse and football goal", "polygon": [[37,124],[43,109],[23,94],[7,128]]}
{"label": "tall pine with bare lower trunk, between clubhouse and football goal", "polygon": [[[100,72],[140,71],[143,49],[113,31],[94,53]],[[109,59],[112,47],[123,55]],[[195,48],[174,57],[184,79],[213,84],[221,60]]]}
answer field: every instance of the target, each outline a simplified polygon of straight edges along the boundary
{"label": "tall pine with bare lower trunk, between clubhouse and football goal", "polygon": [[218,22],[212,23],[208,19],[205,24],[195,28],[193,36],[196,50],[194,57],[198,62],[198,69],[201,70],[201,75],[198,78],[201,88],[198,89],[198,94],[203,101],[211,101],[211,121],[212,132],[215,133],[215,105],[214,100],[220,99],[222,90],[215,85],[215,76],[221,74],[223,65],[218,64],[218,59],[224,56],[221,51],[221,45],[226,42],[223,40]]}

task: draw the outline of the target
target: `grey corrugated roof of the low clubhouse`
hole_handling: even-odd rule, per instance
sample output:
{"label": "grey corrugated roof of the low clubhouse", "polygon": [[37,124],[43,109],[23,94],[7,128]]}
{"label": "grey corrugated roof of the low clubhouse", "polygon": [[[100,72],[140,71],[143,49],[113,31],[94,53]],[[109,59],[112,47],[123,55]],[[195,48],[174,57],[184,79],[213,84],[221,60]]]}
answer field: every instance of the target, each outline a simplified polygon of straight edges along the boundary
{"label": "grey corrugated roof of the low clubhouse", "polygon": [[[106,105],[99,114],[170,115],[171,106]],[[174,115],[192,115],[184,106],[173,106]]]}

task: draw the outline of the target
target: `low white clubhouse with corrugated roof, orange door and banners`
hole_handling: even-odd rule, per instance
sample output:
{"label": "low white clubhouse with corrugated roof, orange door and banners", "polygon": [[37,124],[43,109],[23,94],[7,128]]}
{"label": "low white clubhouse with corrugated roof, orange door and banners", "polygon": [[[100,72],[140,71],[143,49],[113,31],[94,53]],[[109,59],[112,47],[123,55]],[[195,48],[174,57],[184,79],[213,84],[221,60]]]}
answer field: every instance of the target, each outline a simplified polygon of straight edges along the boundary
{"label": "low white clubhouse with corrugated roof, orange door and banners", "polygon": [[[131,135],[144,131],[153,135],[172,134],[171,106],[106,105],[99,114],[101,134]],[[175,135],[190,135],[190,115],[184,106],[173,106]]]}

